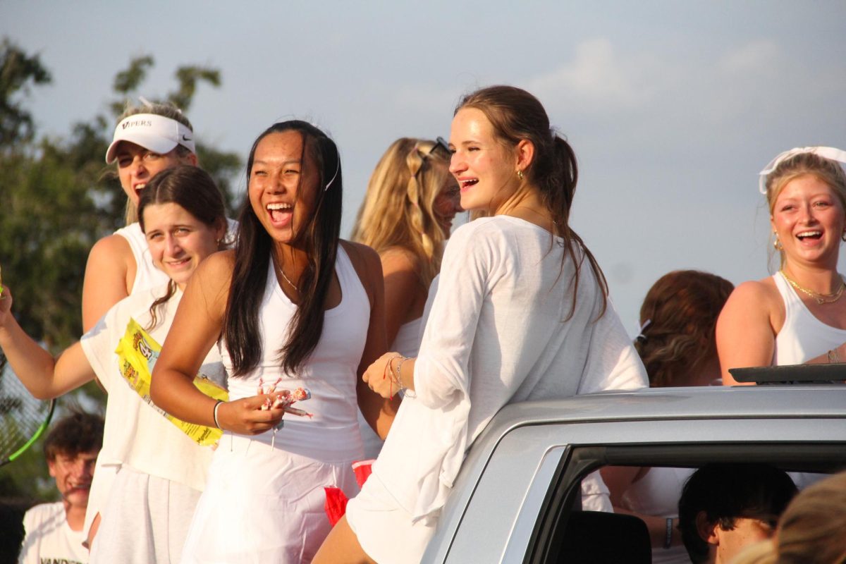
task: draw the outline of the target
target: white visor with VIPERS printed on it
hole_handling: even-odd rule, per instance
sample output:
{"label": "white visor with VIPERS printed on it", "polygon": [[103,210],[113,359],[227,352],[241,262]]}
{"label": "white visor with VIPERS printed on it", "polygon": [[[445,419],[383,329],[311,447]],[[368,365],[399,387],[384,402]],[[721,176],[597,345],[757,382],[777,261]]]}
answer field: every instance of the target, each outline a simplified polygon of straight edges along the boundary
{"label": "white visor with VIPERS printed on it", "polygon": [[182,145],[192,153],[197,152],[193,131],[175,119],[165,118],[155,113],[136,113],[118,123],[118,127],[114,129],[112,145],[109,145],[106,151],[107,163],[114,162],[115,153],[121,141],[135,143],[147,151],[161,155],[173,151],[176,145]]}

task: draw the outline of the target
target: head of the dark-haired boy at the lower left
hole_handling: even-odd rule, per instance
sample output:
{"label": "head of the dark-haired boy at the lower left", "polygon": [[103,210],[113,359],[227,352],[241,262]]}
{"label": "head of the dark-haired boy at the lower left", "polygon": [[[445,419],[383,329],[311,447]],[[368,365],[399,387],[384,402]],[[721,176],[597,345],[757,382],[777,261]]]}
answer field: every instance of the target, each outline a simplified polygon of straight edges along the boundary
{"label": "head of the dark-haired boy at the lower left", "polygon": [[44,457],[65,511],[85,511],[94,476],[94,463],[103,442],[103,419],[91,413],[74,412],[53,425],[44,440]]}

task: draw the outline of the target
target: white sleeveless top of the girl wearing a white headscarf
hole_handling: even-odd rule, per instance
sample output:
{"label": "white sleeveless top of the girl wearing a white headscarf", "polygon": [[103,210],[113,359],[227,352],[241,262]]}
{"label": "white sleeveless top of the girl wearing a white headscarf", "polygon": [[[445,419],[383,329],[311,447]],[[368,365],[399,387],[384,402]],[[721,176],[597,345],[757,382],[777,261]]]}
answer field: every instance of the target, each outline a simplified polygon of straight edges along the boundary
{"label": "white sleeveless top of the girl wearing a white headscarf", "polygon": [[776,336],[772,364],[803,364],[846,342],[846,329],[816,319],[781,272],[772,279],[784,302],[784,325]]}

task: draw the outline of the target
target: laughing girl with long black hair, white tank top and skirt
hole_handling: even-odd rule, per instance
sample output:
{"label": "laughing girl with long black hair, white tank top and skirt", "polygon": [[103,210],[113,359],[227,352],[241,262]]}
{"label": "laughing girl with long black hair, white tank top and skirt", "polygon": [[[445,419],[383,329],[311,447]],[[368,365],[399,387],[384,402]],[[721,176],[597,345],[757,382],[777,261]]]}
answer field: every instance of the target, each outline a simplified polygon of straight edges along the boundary
{"label": "laughing girl with long black hair, white tank top and skirt", "polygon": [[[356,408],[382,436],[395,404],[360,375],[384,352],[382,267],[340,241],[338,148],[309,123],[266,129],[247,162],[235,249],[197,271],[153,375],[169,413],[224,430],[182,561],[305,562],[329,532],[324,486],[356,491]],[[197,392],[197,359],[219,342],[229,402]],[[303,408],[261,409],[279,390],[310,389]],[[277,431],[277,428],[280,428]]]}

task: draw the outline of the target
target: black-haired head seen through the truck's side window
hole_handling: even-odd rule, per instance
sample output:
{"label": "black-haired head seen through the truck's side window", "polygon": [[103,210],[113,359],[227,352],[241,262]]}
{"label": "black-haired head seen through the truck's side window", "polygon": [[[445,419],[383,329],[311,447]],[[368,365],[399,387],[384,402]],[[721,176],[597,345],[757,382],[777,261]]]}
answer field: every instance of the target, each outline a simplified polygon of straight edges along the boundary
{"label": "black-haired head seen through the truck's side window", "polygon": [[790,476],[769,464],[699,468],[678,500],[678,528],[690,561],[724,564],[745,546],[771,537],[795,494]]}

